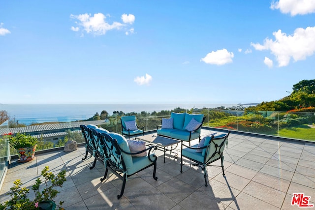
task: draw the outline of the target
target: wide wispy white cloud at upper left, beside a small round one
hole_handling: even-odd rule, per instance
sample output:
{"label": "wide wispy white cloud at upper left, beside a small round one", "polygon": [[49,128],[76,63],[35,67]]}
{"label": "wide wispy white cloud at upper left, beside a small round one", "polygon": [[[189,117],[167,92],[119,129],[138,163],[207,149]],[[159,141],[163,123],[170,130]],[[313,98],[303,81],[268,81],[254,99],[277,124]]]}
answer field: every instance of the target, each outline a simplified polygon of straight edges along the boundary
{"label": "wide wispy white cloud at upper left, beside a small round one", "polygon": [[[95,35],[103,35],[108,30],[118,30],[123,27],[123,24],[119,22],[113,22],[113,24],[107,23],[105,21],[106,16],[102,13],[96,13],[94,16],[85,13],[81,15],[70,15],[70,17],[79,20],[80,22],[77,24],[80,27],[83,27],[83,30],[85,30],[87,33],[93,33]],[[76,27],[71,27],[71,30],[73,29],[77,30]]]}

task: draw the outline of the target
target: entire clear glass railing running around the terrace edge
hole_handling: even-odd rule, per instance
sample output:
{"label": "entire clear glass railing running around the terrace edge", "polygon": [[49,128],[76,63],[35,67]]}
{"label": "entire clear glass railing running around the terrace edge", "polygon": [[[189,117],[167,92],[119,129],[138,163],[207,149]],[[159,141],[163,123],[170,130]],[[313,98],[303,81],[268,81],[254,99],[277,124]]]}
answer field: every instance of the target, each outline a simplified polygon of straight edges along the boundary
{"label": "entire clear glass railing running around the terrace edge", "polygon": [[[311,140],[314,139],[315,132],[315,115],[314,113],[297,113],[297,112],[271,112],[271,111],[256,111],[246,113],[244,110],[226,110],[226,109],[208,109],[208,108],[193,108],[193,109],[175,109],[176,112],[188,112],[191,114],[204,114],[205,121],[203,126],[210,128],[221,128],[227,130],[236,130],[257,134],[266,134],[272,136],[280,136],[293,139]],[[111,132],[121,133],[121,116],[136,115],[137,124],[144,126],[145,131],[156,130],[158,125],[161,125],[162,118],[170,118],[170,110],[156,111],[141,111],[123,113],[116,112],[110,114],[95,114],[94,116],[75,116],[71,119],[45,117],[44,114],[39,121],[31,119],[32,124],[23,125],[23,120],[13,120],[12,128],[19,127],[20,132],[31,135],[36,135],[38,138],[38,146],[36,150],[45,150],[54,147],[62,147],[67,140],[74,140],[77,143],[83,143],[81,131],[77,123],[85,122],[103,127]],[[78,120],[80,119],[80,120]],[[82,120],[83,119],[83,120]],[[28,120],[28,119],[24,119]],[[38,120],[38,119],[37,119]],[[65,120],[65,121],[64,121]],[[30,120],[29,120],[30,121]],[[44,122],[46,121],[46,122]],[[11,122],[11,121],[10,121]],[[46,125],[58,125],[63,127],[69,125],[68,129],[63,129],[60,136],[48,138],[48,131],[40,130]],[[11,124],[9,125],[11,126]],[[29,126],[37,126],[36,132],[29,132]],[[57,127],[58,127],[57,126]],[[15,128],[13,128],[15,127]],[[15,130],[16,131],[16,130]],[[11,154],[16,154],[16,151],[11,149]]]}

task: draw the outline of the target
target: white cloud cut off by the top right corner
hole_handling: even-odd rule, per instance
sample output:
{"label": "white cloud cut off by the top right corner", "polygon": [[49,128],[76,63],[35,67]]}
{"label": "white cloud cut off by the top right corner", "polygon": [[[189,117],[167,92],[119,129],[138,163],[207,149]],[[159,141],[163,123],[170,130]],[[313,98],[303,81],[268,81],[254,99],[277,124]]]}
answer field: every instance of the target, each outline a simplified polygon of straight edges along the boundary
{"label": "white cloud cut off by the top right corner", "polygon": [[282,13],[290,13],[291,16],[305,15],[315,12],[315,0],[279,0],[273,1],[271,9],[280,9]]}

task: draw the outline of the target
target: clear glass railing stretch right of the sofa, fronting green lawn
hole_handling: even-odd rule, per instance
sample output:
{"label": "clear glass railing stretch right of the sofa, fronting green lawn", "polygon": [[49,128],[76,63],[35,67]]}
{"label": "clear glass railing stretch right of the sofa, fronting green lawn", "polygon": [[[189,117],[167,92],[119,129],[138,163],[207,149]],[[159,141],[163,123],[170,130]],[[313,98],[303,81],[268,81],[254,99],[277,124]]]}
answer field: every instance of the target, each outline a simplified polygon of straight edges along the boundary
{"label": "clear glass railing stretch right of the sofa, fronting green lawn", "polygon": [[315,141],[315,113],[209,109],[204,114],[207,127]]}

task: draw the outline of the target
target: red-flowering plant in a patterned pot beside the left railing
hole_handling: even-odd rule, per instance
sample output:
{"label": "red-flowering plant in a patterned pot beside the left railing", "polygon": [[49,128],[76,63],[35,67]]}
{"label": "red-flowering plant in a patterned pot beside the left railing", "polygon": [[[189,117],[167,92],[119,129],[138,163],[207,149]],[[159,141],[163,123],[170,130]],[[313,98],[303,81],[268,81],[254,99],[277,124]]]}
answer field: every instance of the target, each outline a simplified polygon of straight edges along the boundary
{"label": "red-flowering plant in a patterned pot beside the left railing", "polygon": [[28,162],[35,157],[37,138],[23,133],[17,133],[16,135],[10,133],[7,136],[10,147],[18,152],[19,162]]}

